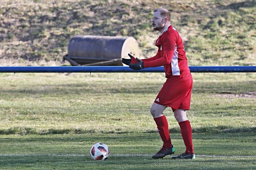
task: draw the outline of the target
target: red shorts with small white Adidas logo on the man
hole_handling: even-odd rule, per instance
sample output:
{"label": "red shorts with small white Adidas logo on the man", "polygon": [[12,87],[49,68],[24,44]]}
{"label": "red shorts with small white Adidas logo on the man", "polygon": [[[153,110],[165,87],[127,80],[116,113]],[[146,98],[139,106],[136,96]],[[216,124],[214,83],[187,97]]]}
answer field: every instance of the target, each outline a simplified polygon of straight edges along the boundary
{"label": "red shorts with small white Adidas logo on the man", "polygon": [[172,111],[177,109],[189,110],[192,85],[191,73],[167,78],[154,102],[172,107]]}

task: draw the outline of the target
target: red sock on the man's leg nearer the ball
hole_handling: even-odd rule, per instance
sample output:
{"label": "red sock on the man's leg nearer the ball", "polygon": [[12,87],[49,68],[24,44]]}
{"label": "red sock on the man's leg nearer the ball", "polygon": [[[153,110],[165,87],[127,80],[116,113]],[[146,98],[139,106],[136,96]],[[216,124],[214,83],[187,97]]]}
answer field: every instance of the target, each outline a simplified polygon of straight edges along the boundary
{"label": "red sock on the man's leg nearer the ball", "polygon": [[162,141],[164,142],[164,147],[170,148],[172,147],[172,142],[170,139],[170,134],[169,134],[169,128],[168,128],[168,122],[166,120],[165,115],[161,117],[154,118],[157,129],[159,131],[160,137],[162,138]]}

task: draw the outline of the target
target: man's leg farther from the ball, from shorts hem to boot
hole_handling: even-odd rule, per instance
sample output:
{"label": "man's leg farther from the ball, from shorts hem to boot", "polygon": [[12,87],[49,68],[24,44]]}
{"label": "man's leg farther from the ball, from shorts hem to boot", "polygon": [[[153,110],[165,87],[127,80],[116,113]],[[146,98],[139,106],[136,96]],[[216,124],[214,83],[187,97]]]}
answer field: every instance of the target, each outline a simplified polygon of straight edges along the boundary
{"label": "man's leg farther from the ball, from shorts hem to boot", "polygon": [[180,125],[181,135],[186,146],[186,151],[180,154],[180,156],[172,157],[172,159],[195,159],[194,146],[192,143],[192,130],[187,118],[186,110],[175,110],[174,117]]}

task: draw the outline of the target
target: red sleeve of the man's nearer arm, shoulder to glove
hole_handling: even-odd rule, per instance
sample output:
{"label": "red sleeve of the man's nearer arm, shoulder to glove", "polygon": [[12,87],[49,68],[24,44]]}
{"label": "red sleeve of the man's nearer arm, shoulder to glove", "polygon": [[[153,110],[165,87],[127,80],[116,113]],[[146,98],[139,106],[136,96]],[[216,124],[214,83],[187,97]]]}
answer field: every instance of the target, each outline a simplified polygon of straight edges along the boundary
{"label": "red sleeve of the man's nearer arm, shoulder to glove", "polygon": [[159,66],[163,66],[166,64],[170,64],[172,61],[175,44],[176,44],[176,38],[175,38],[174,33],[170,34],[167,37],[163,37],[163,50],[164,50],[163,57],[158,58],[153,61],[143,62],[144,68],[159,67]]}

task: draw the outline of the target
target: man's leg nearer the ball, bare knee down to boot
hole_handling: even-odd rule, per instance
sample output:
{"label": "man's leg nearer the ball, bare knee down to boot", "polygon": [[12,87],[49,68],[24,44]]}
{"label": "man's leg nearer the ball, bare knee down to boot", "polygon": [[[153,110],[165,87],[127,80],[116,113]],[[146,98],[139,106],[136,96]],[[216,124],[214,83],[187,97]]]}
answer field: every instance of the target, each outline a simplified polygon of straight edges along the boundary
{"label": "man's leg nearer the ball, bare knee down to boot", "polygon": [[153,103],[150,109],[150,113],[156,122],[160,137],[164,142],[163,147],[161,147],[161,149],[152,156],[152,158],[156,159],[164,158],[166,155],[171,155],[175,152],[170,139],[168,122],[165,115],[163,114],[165,108],[166,106]]}

